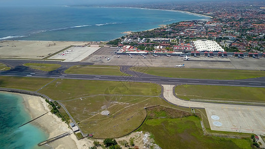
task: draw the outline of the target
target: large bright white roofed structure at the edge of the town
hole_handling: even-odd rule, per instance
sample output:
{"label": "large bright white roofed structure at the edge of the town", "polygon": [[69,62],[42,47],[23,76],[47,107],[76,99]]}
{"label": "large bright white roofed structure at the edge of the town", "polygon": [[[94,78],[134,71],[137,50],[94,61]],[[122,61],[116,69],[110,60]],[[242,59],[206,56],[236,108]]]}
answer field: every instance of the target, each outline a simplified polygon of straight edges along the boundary
{"label": "large bright white roofed structure at the edge of the town", "polygon": [[221,51],[221,52],[224,52],[224,49],[215,41],[196,40],[196,41],[193,41],[193,44],[194,44],[194,47],[197,51],[209,51],[209,52]]}

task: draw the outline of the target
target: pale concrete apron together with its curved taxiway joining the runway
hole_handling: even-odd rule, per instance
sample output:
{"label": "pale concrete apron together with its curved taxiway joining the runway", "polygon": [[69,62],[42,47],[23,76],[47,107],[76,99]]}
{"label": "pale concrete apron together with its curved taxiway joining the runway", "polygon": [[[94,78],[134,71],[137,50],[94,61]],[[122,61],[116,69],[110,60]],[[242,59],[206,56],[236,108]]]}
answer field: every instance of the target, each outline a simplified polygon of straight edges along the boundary
{"label": "pale concrete apron together with its curved taxiway joining the runway", "polygon": [[189,108],[204,108],[211,130],[265,134],[265,107],[204,103],[182,100],[174,96],[175,85],[162,85],[164,97],[171,103]]}

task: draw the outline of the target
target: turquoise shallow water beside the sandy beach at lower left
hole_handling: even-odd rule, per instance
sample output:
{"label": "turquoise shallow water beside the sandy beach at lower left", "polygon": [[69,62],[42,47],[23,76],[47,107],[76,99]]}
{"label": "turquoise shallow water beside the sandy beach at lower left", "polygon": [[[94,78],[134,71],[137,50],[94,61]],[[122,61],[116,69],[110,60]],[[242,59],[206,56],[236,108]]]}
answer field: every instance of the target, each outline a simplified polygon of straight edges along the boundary
{"label": "turquoise shallow water beside the sandy beach at lower left", "polygon": [[18,128],[31,120],[23,101],[19,95],[0,92],[0,149],[35,149],[48,137],[30,123]]}

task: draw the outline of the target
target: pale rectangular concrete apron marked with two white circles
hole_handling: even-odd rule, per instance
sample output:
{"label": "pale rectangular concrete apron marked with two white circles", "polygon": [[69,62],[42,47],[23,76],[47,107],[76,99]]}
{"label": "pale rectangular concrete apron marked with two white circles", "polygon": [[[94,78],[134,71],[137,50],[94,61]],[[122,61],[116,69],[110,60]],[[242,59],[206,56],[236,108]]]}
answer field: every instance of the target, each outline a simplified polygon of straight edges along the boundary
{"label": "pale rectangular concrete apron marked with two white circles", "polygon": [[211,130],[265,134],[265,109],[255,106],[205,106]]}

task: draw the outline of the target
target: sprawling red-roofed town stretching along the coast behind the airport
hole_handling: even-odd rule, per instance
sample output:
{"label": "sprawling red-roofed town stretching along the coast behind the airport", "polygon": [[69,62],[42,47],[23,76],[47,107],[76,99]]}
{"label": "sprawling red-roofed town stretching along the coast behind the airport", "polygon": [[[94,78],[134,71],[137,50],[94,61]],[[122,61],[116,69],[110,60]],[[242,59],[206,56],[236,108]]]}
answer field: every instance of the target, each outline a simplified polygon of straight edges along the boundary
{"label": "sprawling red-roofed town stretching along the coast behind the airport", "polygon": [[[117,54],[124,54],[125,51],[127,54],[136,54],[138,51],[138,54],[191,53],[196,56],[197,53],[213,56],[219,52],[220,56],[226,56],[226,52],[231,52],[242,58],[259,58],[265,55],[265,4],[263,1],[251,2],[252,4],[247,1],[214,1],[132,5],[131,7],[182,10],[212,18],[182,21],[154,30],[132,32],[108,44],[122,47]],[[211,44],[207,45],[209,42]],[[128,47],[129,45],[132,47]]]}

